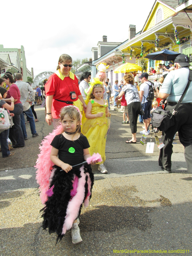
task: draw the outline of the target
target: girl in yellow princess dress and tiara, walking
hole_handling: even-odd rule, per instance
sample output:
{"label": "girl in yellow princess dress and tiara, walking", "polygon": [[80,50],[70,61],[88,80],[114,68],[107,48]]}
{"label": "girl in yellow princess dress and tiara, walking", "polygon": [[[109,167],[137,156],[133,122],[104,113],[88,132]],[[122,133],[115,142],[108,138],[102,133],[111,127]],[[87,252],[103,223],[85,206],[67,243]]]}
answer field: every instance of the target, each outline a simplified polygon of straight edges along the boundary
{"label": "girl in yellow princess dress and tiara, walking", "polygon": [[[99,80],[99,79],[98,79]],[[82,133],[87,137],[90,144],[90,154],[99,153],[102,157],[102,162],[99,164],[98,170],[101,173],[107,173],[107,169],[104,166],[105,162],[105,134],[108,129],[108,102],[103,100],[103,86],[102,82],[98,81],[92,87],[92,92],[89,95],[89,102],[85,119],[82,127]]]}

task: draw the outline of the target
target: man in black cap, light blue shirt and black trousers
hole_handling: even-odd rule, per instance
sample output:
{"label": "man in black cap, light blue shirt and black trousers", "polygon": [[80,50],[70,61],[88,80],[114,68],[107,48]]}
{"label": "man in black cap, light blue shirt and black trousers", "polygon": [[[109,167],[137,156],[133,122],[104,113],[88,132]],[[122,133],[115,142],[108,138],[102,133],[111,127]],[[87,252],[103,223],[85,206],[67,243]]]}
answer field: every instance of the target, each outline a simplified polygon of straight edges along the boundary
{"label": "man in black cap, light blue shirt and black trousers", "polygon": [[[189,57],[180,54],[175,59],[175,70],[170,72],[157,93],[158,97],[167,100],[165,110],[171,113],[180,100],[189,78]],[[191,81],[191,79],[190,79]],[[162,133],[164,147],[160,149],[159,166],[166,173],[171,172],[172,142],[175,133],[178,131],[180,142],[185,147],[185,160],[188,173],[192,173],[192,82],[190,82],[180,107],[174,117],[175,124]]]}

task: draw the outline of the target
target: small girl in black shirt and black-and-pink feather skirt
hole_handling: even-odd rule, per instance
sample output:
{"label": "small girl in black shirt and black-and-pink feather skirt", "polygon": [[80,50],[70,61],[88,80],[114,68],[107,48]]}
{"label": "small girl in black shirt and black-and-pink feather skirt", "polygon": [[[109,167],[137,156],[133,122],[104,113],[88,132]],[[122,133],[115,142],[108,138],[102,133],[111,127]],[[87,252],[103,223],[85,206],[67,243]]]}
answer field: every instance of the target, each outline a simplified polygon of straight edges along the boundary
{"label": "small girl in black shirt and black-and-pink feather skirt", "polygon": [[[56,232],[57,241],[65,235],[68,229],[72,228],[72,243],[77,244],[82,241],[78,216],[82,204],[84,203],[84,207],[89,204],[94,180],[91,166],[84,161],[94,164],[98,159],[92,160],[93,157],[90,156],[88,149],[89,142],[81,133],[79,109],[75,106],[62,108],[60,121],[62,127],[57,128],[60,132],[56,132],[58,135],[51,142],[50,159],[55,166],[51,175],[46,174],[49,170],[43,173],[40,170],[42,162],[50,160],[42,159],[45,156],[41,154],[37,160],[36,167],[40,169],[37,171],[36,179],[41,186],[41,191],[44,192],[44,195],[40,195],[42,202],[45,203],[42,209],[43,228],[49,228],[49,233]],[[49,189],[45,192],[44,187],[48,183],[45,179],[46,175],[50,178]],[[48,199],[44,197],[45,194]]]}

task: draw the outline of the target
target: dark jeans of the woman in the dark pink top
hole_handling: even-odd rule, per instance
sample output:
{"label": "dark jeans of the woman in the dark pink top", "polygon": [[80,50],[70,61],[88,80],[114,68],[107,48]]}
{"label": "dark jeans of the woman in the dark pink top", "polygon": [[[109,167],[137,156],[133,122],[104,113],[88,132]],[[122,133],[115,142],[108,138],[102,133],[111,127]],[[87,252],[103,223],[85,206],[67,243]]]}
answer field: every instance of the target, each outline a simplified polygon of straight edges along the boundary
{"label": "dark jeans of the woman in the dark pink top", "polygon": [[15,104],[14,109],[10,111],[13,113],[13,126],[9,128],[9,139],[12,141],[13,145],[18,147],[25,146],[25,141],[23,138],[23,132],[20,125],[20,114],[23,112],[23,105],[21,103]]}

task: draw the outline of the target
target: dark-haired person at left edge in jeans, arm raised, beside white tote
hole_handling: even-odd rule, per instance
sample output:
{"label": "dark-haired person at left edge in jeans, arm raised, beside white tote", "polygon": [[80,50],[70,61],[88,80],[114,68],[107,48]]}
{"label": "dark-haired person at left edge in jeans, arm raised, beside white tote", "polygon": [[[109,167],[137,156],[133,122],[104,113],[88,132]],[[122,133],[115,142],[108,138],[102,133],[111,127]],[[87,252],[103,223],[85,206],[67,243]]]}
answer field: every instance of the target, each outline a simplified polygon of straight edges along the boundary
{"label": "dark-haired person at left edge in jeans, arm raised, beside white tote", "polygon": [[[3,96],[2,96],[3,95]],[[0,108],[4,108],[5,110],[13,110],[14,109],[14,99],[13,97],[10,98],[11,101],[11,106],[7,104],[5,99],[7,96],[7,90],[4,87],[0,87]],[[14,114],[10,114],[9,111],[8,116],[14,116]],[[0,123],[3,121],[3,113],[0,115]],[[15,153],[10,152],[9,150],[9,145],[8,145],[8,136],[9,136],[9,129],[4,130],[3,132],[0,132],[0,145],[1,145],[1,150],[2,150],[2,156],[7,157],[7,156],[13,156]]]}

